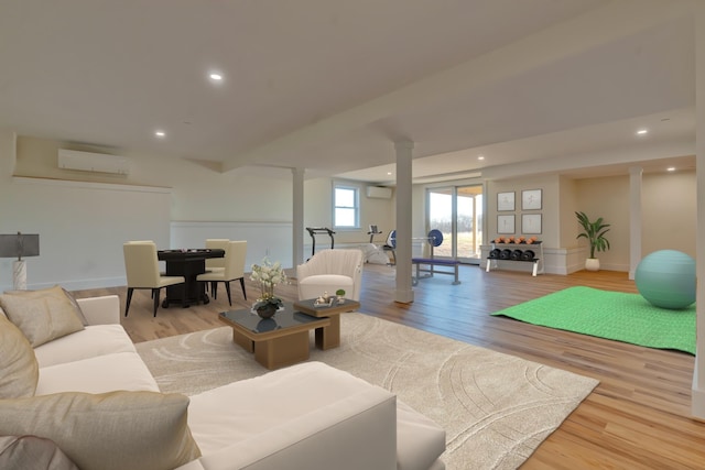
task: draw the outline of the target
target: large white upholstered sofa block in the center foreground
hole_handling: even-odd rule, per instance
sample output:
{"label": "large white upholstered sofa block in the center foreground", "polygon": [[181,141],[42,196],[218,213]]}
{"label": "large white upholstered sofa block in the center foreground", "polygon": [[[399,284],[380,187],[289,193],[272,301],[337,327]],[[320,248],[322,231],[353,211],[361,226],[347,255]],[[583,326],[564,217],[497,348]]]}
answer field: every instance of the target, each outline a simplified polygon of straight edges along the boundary
{"label": "large white upholstered sofa block in the center foreground", "polygon": [[306,362],[193,395],[188,425],[205,469],[394,469],[395,402]]}

